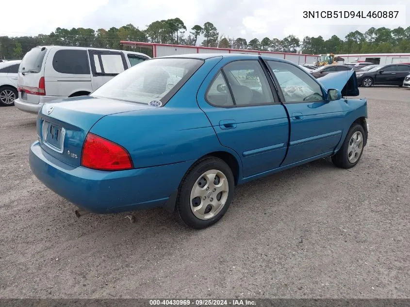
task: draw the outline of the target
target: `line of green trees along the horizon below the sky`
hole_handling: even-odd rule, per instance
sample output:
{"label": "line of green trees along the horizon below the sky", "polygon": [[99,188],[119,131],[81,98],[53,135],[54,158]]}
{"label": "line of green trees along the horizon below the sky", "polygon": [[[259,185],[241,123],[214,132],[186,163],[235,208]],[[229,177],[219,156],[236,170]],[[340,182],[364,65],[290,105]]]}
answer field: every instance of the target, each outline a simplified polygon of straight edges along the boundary
{"label": "line of green trees along the horizon below the sky", "polygon": [[[200,38],[203,38],[202,42],[198,41]],[[31,48],[45,45],[119,49],[120,40],[293,53],[301,50],[307,54],[401,53],[410,52],[410,27],[372,27],[364,33],[350,32],[344,39],[333,35],[325,40],[319,35],[305,36],[300,40],[295,35],[289,35],[283,39],[263,37],[246,41],[242,37],[220,35],[212,22],[205,22],[202,26],[194,25],[188,29],[180,18],[172,18],[154,21],[145,30],[127,24],[109,30],[57,28],[50,34],[36,36],[0,36],[0,58],[21,59]],[[149,53],[148,49],[141,51]]]}

